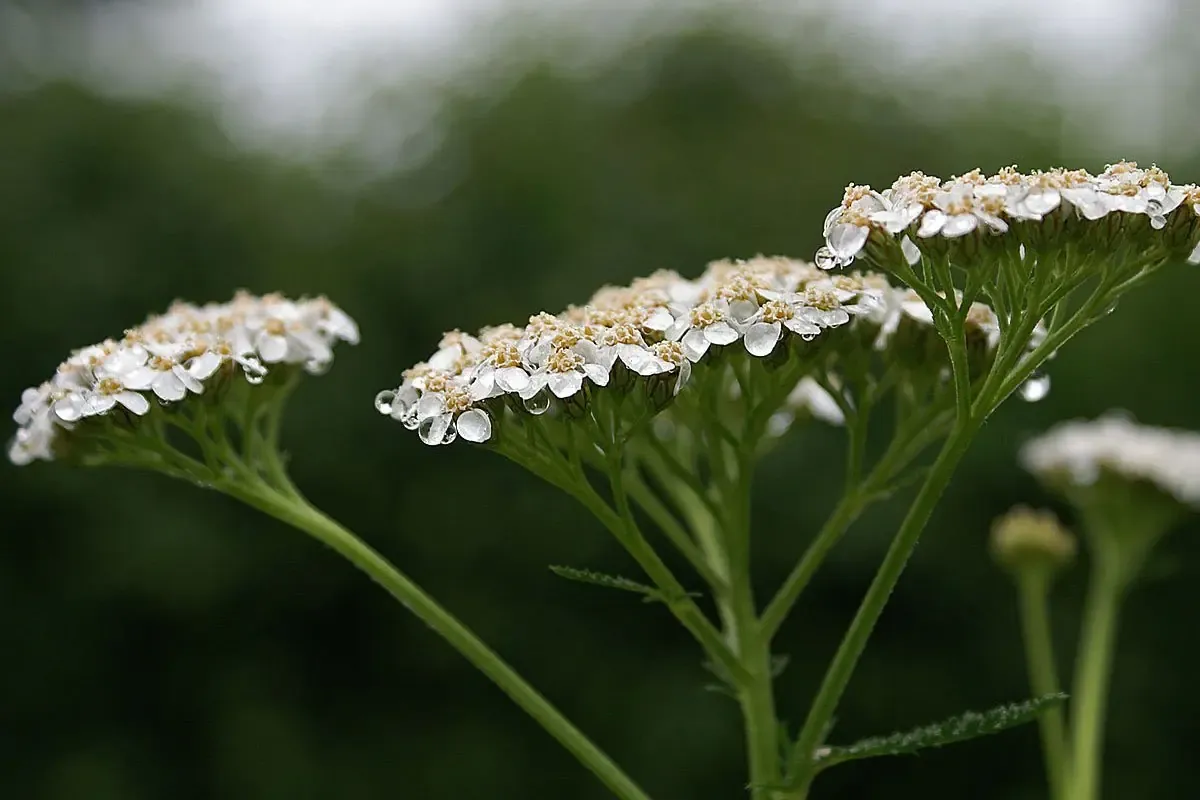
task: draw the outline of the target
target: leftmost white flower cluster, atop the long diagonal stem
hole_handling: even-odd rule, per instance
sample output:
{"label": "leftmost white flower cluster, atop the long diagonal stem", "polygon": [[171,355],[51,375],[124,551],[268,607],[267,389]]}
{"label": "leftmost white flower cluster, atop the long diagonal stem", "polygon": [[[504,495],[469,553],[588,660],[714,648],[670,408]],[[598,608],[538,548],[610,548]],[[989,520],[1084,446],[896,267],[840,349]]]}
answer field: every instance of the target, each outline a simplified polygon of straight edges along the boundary
{"label": "leftmost white flower cluster, atop the long diagonal stem", "polygon": [[151,396],[176,403],[204,392],[205,383],[236,365],[260,384],[274,365],[323,372],[336,342],[356,343],[358,326],[324,297],[287,300],[239,293],[232,301],[176,302],[121,339],[76,350],[54,377],[22,395],[19,426],[8,450],[16,464],[54,458],[62,431],[121,409],[142,416]]}

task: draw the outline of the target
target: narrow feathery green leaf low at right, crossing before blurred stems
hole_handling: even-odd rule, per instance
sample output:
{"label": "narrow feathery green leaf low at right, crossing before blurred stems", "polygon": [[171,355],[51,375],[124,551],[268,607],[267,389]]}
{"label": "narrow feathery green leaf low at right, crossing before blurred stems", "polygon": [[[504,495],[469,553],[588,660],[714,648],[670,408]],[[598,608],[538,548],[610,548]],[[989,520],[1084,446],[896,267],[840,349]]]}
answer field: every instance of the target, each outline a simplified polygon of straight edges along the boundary
{"label": "narrow feathery green leaf low at right, crossing before blurred stems", "polygon": [[817,769],[878,756],[906,756],[926,747],[942,747],[958,741],[988,736],[1032,722],[1043,711],[1067,699],[1066,694],[1045,694],[1024,703],[1009,703],[988,711],[967,711],[942,722],[886,736],[863,739],[845,747],[827,747],[817,753]]}

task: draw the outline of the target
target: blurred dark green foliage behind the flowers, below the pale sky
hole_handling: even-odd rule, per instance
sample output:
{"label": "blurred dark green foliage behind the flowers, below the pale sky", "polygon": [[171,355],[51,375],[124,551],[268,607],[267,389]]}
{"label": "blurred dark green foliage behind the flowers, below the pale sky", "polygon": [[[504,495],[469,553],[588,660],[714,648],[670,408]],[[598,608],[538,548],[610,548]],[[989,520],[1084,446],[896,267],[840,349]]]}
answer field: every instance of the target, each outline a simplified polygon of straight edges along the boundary
{"label": "blurred dark green foliage behind the flowers, below the pale sky", "polygon": [[[194,98],[114,98],[70,80],[10,88],[0,396],[16,405],[71,348],[175,297],[328,294],[364,341],[292,404],[296,482],[655,798],[743,796],[737,708],[704,691],[688,636],[660,607],[547,571],[636,575],[600,527],[484,450],[425,447],[371,399],[443,330],[522,320],[659,267],[810,257],[851,181],[1158,156],[1133,144],[1105,158],[1086,132],[1063,134],[1037,91],[1044,76],[1016,55],[1009,82],[947,107],[919,86],[898,97],[852,80],[822,36],[794,43],[812,53],[800,66],[790,48],[719,23],[632,42],[589,71],[498,50],[505,78],[486,90],[427,88],[442,92],[442,138],[395,170],[353,154],[301,161],[246,149]],[[1162,166],[1177,181],[1200,179],[1200,149],[1175,150]],[[996,415],[911,563],[834,739],[1027,694],[1010,587],[985,552],[996,515],[1051,503],[1018,469],[1016,449],[1056,420],[1109,408],[1200,428],[1198,291],[1200,272],[1169,271],[1051,363],[1045,401]],[[814,428],[763,470],[763,594],[832,507],[840,463],[840,433]],[[152,475],[46,464],[5,464],[0,475],[0,796],[605,796],[384,593],[281,524]],[[792,656],[779,682],[791,721],[803,718],[905,505],[856,527],[780,637]],[[1200,782],[1195,528],[1168,540],[1128,606],[1110,798],[1189,798]],[[1081,577],[1076,567],[1057,595],[1064,658]],[[839,768],[817,796],[1040,798],[1040,781],[1030,727]]]}

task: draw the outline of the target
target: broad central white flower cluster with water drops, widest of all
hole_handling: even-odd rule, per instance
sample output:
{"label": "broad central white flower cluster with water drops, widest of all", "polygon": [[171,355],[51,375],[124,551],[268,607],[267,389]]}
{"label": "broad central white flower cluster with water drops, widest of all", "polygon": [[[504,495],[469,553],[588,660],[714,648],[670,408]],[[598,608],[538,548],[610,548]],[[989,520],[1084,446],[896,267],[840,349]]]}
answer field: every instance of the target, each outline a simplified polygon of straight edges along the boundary
{"label": "broad central white flower cluster with water drops, widest of all", "polygon": [[[968,324],[996,327],[986,314]],[[379,392],[376,408],[426,444],[457,437],[481,443],[492,437],[487,407],[494,398],[538,415],[552,397],[576,397],[586,383],[607,385],[618,365],[646,380],[670,381],[678,393],[692,363],[713,348],[740,343],[763,357],[785,336],[812,341],[856,318],[877,326],[876,344],[884,347],[904,315],[932,319],[924,303],[883,276],[829,276],[782,257],[714,261],[694,281],[661,271],[629,287],[605,287],[587,305],[536,314],[524,327],[452,331],[427,361],[404,372],[397,389]]]}

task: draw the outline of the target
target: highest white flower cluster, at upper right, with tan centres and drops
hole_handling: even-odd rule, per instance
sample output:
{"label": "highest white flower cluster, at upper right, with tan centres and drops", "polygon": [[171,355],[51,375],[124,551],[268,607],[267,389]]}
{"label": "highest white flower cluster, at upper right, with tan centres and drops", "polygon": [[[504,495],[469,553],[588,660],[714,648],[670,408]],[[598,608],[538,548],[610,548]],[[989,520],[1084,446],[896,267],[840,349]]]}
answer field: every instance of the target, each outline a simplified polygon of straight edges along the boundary
{"label": "highest white flower cluster, at upper right, with tan centres and drops", "polygon": [[[1162,229],[1177,209],[1200,216],[1200,190],[1176,186],[1162,169],[1133,162],[1110,164],[1099,175],[1084,169],[1024,174],[1008,167],[990,176],[974,169],[943,181],[912,173],[883,192],[848,186],[841,205],[826,217],[826,246],[817,253],[817,265],[834,269],[853,263],[872,230],[904,235],[905,255],[916,261],[919,251],[910,236],[1003,234],[1013,223],[1040,222],[1060,209],[1088,221],[1112,213],[1145,216],[1151,227]],[[1190,260],[1200,261],[1200,246]]]}

